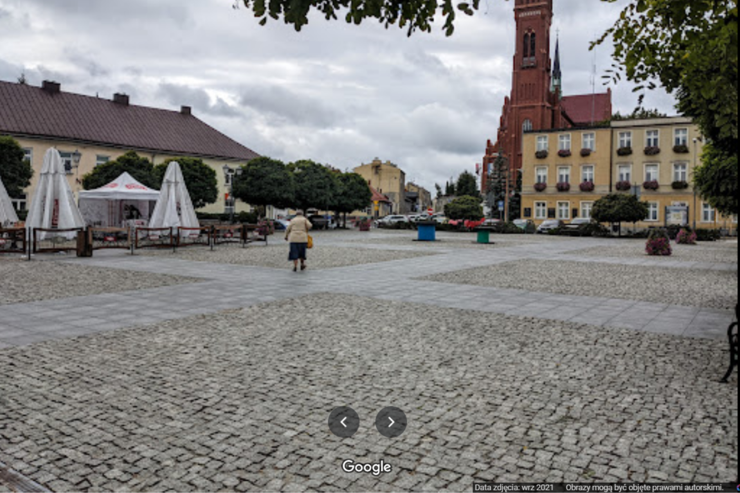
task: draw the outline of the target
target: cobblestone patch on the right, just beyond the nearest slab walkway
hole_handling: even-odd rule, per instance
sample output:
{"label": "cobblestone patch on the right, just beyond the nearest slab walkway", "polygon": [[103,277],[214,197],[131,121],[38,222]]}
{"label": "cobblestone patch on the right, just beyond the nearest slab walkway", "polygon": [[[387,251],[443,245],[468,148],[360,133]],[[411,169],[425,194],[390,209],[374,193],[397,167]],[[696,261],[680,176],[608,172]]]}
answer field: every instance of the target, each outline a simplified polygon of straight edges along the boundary
{"label": "cobblestone patch on the right, just beyond the nearest slab walkway", "polygon": [[725,310],[738,302],[737,271],[527,259],[421,279]]}

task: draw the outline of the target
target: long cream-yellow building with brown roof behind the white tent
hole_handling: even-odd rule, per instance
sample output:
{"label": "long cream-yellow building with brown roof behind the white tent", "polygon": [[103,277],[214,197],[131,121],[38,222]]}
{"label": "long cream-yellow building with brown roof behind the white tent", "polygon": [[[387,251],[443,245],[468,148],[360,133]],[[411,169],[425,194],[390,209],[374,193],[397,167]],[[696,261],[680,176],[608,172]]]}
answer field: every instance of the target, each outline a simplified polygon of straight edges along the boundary
{"label": "long cream-yellow building with brown roof behind the white tent", "polygon": [[18,140],[33,166],[30,187],[13,198],[18,210],[30,203],[50,147],[61,154],[75,196],[82,177],[95,166],[135,151],[155,165],[169,158],[200,158],[215,169],[219,189],[217,202],[201,210],[250,210],[227,195],[235,169],[259,154],[195,118],[189,106],[177,112],[135,106],[123,94],[109,100],[62,92],[50,81],[41,87],[0,81],[0,135]]}

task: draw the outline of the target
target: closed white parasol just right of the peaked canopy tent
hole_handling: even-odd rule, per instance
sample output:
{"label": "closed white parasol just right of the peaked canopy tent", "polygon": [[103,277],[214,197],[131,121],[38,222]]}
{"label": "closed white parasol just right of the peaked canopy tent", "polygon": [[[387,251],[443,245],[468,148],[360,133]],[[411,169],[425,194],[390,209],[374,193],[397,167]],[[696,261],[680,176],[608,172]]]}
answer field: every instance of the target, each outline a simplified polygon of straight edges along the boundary
{"label": "closed white parasol just right of the peaked canopy tent", "polygon": [[155,205],[149,228],[198,228],[198,217],[192,206],[190,194],[185,186],[183,172],[177,161],[167,166],[162,189]]}

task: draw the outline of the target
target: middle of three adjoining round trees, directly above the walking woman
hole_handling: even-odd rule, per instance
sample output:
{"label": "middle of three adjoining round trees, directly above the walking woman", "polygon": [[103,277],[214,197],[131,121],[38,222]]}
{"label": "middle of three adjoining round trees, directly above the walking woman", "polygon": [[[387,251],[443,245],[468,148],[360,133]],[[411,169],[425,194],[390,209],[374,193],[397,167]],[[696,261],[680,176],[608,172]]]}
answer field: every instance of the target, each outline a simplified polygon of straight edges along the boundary
{"label": "middle of three adjoining round trees, directly above the walking woman", "polygon": [[288,165],[295,179],[295,205],[297,208],[326,209],[334,203],[337,183],[332,171],[312,160],[299,160]]}

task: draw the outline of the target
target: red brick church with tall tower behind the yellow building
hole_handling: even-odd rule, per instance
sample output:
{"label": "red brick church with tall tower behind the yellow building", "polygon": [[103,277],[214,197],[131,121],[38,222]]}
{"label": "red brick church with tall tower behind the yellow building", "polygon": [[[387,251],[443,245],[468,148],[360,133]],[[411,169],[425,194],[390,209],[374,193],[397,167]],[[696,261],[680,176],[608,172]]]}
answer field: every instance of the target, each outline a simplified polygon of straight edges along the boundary
{"label": "red brick church with tall tower behind the yellow building", "polygon": [[[489,165],[501,154],[511,169],[522,168],[522,134],[528,130],[583,126],[611,116],[611,93],[562,96],[559,48],[550,58],[553,0],[516,0],[517,42],[511,95],[504,99],[496,143],[488,140],[483,157],[481,191],[485,194]],[[587,101],[588,100],[588,101]],[[597,102],[596,102],[597,101]],[[595,103],[596,102],[596,103]],[[588,115],[584,109],[588,106]],[[591,111],[591,108],[596,111]],[[578,118],[571,118],[573,113]],[[586,121],[582,121],[582,120]]]}

